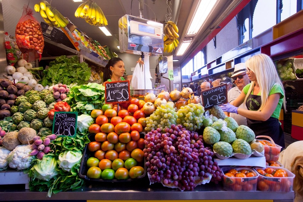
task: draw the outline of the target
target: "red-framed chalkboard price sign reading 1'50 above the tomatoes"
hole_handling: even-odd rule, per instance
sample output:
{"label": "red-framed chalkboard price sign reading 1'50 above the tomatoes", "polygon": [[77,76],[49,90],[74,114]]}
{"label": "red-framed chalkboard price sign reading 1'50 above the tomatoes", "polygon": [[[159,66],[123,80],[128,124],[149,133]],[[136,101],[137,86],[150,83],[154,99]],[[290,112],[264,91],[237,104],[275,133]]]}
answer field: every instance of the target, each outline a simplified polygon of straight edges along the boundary
{"label": "red-framed chalkboard price sign reading 1'50 above the tomatoes", "polygon": [[105,83],[105,103],[130,101],[129,81],[112,81]]}

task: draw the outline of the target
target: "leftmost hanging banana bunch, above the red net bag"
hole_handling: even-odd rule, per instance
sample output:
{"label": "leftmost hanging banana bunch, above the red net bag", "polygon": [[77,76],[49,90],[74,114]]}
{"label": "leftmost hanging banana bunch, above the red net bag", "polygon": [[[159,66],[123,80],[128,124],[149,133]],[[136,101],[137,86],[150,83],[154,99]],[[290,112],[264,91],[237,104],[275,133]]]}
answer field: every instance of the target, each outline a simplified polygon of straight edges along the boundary
{"label": "leftmost hanging banana bunch, above the red net bag", "polygon": [[40,13],[44,21],[51,27],[66,27],[69,21],[56,9],[53,8],[47,1],[41,1],[34,5],[35,12]]}

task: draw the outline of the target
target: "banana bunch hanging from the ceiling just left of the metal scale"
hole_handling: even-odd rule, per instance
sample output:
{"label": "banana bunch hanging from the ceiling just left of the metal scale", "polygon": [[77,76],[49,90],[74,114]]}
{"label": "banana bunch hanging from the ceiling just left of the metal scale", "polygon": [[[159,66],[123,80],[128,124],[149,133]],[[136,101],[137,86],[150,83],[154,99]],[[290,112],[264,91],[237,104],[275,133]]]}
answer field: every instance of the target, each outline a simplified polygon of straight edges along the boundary
{"label": "banana bunch hanging from the ceiling just left of the metal scale", "polygon": [[75,11],[76,18],[84,18],[85,22],[95,26],[107,26],[108,22],[101,8],[96,2],[87,0],[86,2],[79,5]]}

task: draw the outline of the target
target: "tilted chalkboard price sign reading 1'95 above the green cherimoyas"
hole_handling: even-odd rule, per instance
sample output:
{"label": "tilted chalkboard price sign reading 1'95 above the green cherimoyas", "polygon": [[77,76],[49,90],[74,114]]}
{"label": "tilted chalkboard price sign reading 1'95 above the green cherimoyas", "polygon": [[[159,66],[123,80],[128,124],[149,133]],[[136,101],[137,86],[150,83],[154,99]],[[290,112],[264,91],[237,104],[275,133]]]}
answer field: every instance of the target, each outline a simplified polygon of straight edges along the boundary
{"label": "tilted chalkboard price sign reading 1'95 above the green cherimoyas", "polygon": [[201,91],[202,105],[204,109],[210,109],[214,105],[227,103],[227,84]]}

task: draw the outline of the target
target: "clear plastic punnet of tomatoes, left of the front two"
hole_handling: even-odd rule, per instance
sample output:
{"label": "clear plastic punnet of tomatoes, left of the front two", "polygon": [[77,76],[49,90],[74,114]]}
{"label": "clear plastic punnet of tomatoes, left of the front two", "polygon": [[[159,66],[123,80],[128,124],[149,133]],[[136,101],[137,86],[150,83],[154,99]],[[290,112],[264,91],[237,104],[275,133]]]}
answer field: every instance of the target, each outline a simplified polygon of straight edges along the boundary
{"label": "clear plastic punnet of tomatoes, left of the front two", "polygon": [[223,187],[227,191],[257,190],[258,175],[248,167],[222,167]]}

